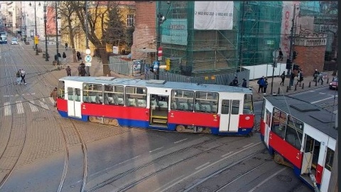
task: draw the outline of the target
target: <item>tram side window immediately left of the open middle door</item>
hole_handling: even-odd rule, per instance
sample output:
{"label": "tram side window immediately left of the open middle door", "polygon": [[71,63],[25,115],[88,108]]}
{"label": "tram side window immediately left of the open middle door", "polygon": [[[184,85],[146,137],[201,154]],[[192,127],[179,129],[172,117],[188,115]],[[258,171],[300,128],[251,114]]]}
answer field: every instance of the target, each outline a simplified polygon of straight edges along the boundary
{"label": "tram side window immediately left of the open middle door", "polygon": [[146,87],[126,87],[126,106],[147,107]]}

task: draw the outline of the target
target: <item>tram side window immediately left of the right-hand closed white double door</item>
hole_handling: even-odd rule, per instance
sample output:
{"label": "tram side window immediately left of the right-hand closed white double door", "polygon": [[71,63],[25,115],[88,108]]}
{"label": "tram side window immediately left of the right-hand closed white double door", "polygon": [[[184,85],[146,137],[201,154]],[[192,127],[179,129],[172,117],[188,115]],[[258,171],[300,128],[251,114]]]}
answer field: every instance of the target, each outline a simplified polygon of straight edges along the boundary
{"label": "tram side window immediately left of the right-hand closed white double door", "polygon": [[217,92],[195,92],[195,112],[217,113]]}

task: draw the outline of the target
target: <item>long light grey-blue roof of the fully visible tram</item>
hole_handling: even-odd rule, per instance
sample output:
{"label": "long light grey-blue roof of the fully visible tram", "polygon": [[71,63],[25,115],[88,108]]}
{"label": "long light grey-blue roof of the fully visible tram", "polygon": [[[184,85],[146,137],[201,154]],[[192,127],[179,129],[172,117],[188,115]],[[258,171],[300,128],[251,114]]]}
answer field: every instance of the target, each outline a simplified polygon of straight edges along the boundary
{"label": "long light grey-blue roof of the fully visible tram", "polygon": [[214,84],[197,84],[190,82],[171,82],[166,80],[141,80],[129,78],[114,78],[114,77],[82,77],[82,76],[67,76],[60,80],[70,80],[76,82],[98,83],[107,85],[133,85],[141,87],[163,87],[178,90],[202,90],[207,92],[244,92],[252,93],[249,88],[232,87],[226,85]]}

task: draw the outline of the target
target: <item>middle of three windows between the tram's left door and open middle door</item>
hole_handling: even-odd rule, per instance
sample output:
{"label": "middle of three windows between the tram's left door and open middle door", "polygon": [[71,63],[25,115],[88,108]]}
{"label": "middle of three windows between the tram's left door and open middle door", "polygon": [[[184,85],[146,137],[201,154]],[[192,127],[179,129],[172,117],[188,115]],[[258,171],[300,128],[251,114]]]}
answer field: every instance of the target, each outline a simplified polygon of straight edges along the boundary
{"label": "middle of three windows between the tram's left door and open middle door", "polygon": [[124,105],[124,87],[119,85],[104,85],[105,105]]}

